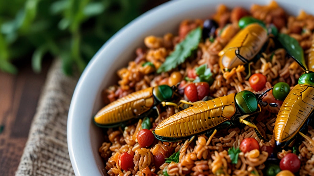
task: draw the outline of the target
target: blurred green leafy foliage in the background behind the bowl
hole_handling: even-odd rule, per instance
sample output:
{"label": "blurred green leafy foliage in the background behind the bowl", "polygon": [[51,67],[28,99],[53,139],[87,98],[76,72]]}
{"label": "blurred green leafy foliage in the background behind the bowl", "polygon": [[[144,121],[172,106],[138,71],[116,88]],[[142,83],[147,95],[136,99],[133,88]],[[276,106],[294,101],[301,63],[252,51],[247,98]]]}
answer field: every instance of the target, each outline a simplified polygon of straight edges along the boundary
{"label": "blurred green leafy foliage in the background behind the bowl", "polygon": [[32,54],[41,71],[45,54],[62,59],[65,74],[83,71],[116,31],[141,13],[144,0],[0,1],[0,70],[17,73],[14,59]]}

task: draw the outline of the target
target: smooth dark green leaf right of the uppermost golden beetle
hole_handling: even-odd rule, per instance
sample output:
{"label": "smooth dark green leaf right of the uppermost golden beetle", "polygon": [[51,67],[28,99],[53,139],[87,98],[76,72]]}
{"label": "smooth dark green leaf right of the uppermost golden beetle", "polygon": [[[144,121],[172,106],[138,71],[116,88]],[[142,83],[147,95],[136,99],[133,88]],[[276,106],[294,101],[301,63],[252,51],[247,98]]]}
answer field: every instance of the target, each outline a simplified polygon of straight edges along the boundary
{"label": "smooth dark green leaf right of the uppermost golden beetle", "polygon": [[278,34],[278,40],[287,53],[294,58],[304,70],[307,70],[303,49],[299,42],[295,38],[290,37],[290,35],[282,33]]}

